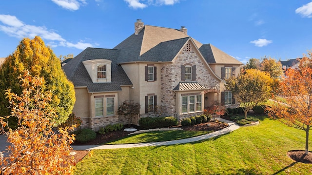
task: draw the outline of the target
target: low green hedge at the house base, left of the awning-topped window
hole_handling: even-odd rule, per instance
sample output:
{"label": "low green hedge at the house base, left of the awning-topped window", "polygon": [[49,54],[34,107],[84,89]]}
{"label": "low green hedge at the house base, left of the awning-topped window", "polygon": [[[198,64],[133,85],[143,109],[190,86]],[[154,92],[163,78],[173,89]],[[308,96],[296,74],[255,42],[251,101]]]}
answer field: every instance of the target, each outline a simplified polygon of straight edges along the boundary
{"label": "low green hedge at the house base, left of the awning-topped window", "polygon": [[168,128],[177,125],[178,121],[175,117],[143,117],[138,124],[143,129]]}

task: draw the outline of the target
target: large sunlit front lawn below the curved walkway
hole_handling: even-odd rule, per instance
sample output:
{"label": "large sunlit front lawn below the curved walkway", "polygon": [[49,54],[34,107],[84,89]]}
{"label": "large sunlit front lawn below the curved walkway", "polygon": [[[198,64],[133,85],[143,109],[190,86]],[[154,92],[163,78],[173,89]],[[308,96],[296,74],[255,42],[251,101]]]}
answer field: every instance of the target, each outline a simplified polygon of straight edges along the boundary
{"label": "large sunlit front lawn below the curved walkway", "polygon": [[[310,135],[310,140],[312,136]],[[310,141],[310,148],[312,144]],[[312,165],[296,163],[290,150],[304,150],[304,131],[277,120],[195,143],[93,150],[76,175],[306,175]]]}

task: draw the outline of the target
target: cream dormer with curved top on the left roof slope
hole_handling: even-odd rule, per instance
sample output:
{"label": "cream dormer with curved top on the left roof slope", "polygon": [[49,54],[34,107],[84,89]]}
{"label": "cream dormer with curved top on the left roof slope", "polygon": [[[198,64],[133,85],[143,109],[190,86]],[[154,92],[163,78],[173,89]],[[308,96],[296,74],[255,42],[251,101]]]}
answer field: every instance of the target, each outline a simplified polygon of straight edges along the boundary
{"label": "cream dormer with curved top on the left roof slope", "polygon": [[108,59],[91,59],[82,61],[84,67],[88,71],[92,82],[111,82],[112,71],[111,71],[111,60]]}

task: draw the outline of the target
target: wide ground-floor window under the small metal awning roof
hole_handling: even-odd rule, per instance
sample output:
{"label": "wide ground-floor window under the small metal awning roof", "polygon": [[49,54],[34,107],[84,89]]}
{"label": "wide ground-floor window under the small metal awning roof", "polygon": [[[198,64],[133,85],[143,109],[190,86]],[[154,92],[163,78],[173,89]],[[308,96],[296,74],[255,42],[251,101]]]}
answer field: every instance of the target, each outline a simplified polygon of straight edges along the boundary
{"label": "wide ground-floor window under the small metal awning roof", "polygon": [[189,113],[201,110],[201,95],[182,96],[182,113]]}

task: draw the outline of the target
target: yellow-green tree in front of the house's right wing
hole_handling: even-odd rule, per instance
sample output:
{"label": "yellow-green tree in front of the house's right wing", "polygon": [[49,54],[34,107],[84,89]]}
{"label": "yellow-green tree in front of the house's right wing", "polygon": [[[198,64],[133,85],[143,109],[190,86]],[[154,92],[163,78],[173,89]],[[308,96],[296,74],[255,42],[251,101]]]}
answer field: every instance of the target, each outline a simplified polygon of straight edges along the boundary
{"label": "yellow-green tree in front of the house's right wing", "polygon": [[247,69],[245,74],[238,77],[225,79],[225,87],[230,90],[240,103],[245,113],[245,119],[249,110],[258,103],[265,102],[271,96],[272,78],[256,69]]}

